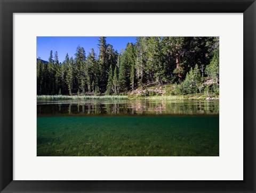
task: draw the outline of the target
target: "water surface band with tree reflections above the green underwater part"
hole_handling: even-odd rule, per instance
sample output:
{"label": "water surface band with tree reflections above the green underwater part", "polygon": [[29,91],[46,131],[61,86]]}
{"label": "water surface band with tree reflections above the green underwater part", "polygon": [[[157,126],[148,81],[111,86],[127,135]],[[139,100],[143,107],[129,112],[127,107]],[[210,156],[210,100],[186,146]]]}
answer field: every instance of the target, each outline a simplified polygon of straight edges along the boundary
{"label": "water surface band with tree reflections above the green underwater part", "polygon": [[218,100],[106,100],[77,104],[38,104],[37,114],[219,114]]}

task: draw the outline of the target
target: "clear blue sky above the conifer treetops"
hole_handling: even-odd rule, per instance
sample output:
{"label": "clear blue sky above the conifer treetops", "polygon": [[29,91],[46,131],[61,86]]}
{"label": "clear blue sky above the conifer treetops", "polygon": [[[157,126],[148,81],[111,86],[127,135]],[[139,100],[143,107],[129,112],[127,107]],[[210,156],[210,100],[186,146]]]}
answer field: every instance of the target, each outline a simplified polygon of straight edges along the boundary
{"label": "clear blue sky above the conifer treetops", "polygon": [[[75,57],[77,46],[84,48],[86,57],[91,48],[96,52],[99,37],[37,37],[36,57],[48,61],[50,51],[53,56],[55,51],[58,52],[59,61],[63,62],[68,53],[69,57]],[[135,43],[136,37],[107,37],[106,43],[111,44],[119,53],[121,49],[125,49],[126,44]],[[99,53],[99,52],[98,52]]]}

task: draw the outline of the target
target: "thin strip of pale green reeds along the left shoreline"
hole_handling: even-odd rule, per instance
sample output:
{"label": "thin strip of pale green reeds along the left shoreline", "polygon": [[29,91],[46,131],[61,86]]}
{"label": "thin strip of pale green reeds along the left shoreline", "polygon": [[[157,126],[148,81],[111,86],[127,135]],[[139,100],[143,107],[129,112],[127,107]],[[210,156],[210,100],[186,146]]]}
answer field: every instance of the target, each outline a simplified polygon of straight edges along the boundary
{"label": "thin strip of pale green reeds along the left shoreline", "polygon": [[109,95],[109,96],[90,96],[90,95],[82,95],[82,96],[68,96],[68,95],[37,95],[37,96],[36,96],[36,99],[37,99],[37,100],[128,99],[128,96],[116,96],[116,95]]}

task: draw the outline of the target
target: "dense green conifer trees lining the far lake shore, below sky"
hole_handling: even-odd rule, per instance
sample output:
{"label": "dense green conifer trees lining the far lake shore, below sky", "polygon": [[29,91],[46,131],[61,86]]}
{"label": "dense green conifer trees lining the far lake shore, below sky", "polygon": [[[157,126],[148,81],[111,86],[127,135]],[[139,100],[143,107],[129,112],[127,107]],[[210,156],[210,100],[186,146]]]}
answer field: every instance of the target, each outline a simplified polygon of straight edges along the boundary
{"label": "dense green conifer trees lining the far lake shore, below sky", "polygon": [[37,95],[121,94],[151,83],[175,83],[173,94],[199,93],[210,89],[205,77],[219,87],[218,37],[137,37],[121,53],[100,37],[98,48],[98,56],[78,46],[62,63],[52,51],[48,62],[37,60]]}

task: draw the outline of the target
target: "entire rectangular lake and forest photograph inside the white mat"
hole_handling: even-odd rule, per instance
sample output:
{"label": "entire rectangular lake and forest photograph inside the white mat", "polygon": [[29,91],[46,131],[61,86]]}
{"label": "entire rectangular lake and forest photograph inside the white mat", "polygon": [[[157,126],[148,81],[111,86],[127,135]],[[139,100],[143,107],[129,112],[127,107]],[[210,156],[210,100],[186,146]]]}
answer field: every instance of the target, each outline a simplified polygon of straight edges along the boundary
{"label": "entire rectangular lake and forest photograph inside the white mat", "polygon": [[36,73],[37,156],[219,156],[219,37],[37,37]]}

